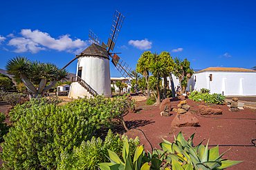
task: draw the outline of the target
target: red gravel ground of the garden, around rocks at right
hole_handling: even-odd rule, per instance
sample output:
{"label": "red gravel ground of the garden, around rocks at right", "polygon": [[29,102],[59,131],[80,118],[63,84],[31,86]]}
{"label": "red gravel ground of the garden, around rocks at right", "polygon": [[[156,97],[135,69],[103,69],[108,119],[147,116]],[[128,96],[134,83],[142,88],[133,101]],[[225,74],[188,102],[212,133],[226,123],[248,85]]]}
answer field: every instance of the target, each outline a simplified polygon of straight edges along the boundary
{"label": "red gravel ground of the garden, around rocks at right", "polygon": [[[153,148],[161,149],[158,146],[163,142],[162,138],[170,142],[174,141],[179,131],[183,132],[186,140],[195,133],[194,145],[205,139],[203,145],[210,139],[210,148],[219,145],[219,154],[230,149],[223,158],[228,160],[244,160],[228,169],[256,169],[255,153],[256,147],[251,143],[256,138],[256,110],[244,109],[238,112],[230,112],[226,105],[212,105],[205,103],[212,108],[219,108],[222,115],[201,116],[199,114],[199,104],[187,99],[192,115],[199,119],[198,127],[172,127],[171,123],[176,112],[171,116],[161,116],[159,105],[145,105],[146,101],[137,102],[137,113],[129,113],[125,116],[128,128],[138,128],[143,130],[145,136],[151,142]],[[172,108],[177,108],[179,101],[172,102]],[[140,138],[140,143],[145,145],[145,149],[151,151],[143,133],[137,129],[131,129],[125,133],[129,138]],[[255,141],[256,142],[256,141]]]}

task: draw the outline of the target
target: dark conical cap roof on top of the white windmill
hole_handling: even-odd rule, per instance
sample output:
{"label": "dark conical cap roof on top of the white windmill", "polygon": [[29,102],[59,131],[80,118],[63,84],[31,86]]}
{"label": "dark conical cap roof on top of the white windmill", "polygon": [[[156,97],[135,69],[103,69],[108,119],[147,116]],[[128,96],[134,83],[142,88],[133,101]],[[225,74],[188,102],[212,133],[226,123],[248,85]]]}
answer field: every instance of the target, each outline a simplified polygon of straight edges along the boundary
{"label": "dark conical cap roof on top of the white windmill", "polygon": [[95,43],[92,43],[89,47],[87,47],[83,52],[79,54],[79,56],[103,57],[105,59],[109,59],[107,50]]}

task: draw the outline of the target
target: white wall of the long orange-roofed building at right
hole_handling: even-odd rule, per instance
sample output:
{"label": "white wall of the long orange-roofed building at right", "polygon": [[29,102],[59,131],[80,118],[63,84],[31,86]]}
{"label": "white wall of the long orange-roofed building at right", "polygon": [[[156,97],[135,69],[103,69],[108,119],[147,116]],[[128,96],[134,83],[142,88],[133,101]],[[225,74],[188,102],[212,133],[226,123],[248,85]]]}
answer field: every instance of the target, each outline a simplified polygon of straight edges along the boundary
{"label": "white wall of the long orange-roofed building at right", "polygon": [[[210,81],[212,74],[212,81]],[[256,72],[221,72],[205,71],[195,73],[194,89],[210,89],[210,94],[224,96],[253,96],[256,95]]]}

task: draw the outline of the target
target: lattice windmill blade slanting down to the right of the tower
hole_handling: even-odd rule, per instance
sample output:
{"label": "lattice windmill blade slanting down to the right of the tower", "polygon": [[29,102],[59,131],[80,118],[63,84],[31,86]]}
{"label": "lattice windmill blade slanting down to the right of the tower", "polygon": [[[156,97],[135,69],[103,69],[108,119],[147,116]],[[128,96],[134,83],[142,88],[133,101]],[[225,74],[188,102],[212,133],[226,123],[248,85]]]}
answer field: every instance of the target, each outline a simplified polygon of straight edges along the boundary
{"label": "lattice windmill blade slanting down to the right of the tower", "polygon": [[116,69],[120,72],[120,74],[122,74],[123,77],[130,77],[132,79],[134,79],[131,76],[131,70],[133,70],[127,63],[125,63],[125,61],[123,61],[120,56],[116,55],[116,54],[110,54],[110,56],[112,57],[112,63],[113,65],[116,66]]}

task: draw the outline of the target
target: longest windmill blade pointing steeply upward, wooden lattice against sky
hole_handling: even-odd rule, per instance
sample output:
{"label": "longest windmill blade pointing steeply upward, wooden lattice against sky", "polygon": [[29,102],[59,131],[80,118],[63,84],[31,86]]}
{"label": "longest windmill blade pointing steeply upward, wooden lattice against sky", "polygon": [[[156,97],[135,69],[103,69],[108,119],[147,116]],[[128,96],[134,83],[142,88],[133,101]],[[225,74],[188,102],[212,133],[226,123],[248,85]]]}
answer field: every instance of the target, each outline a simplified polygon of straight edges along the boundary
{"label": "longest windmill blade pointing steeply upward, wooden lattice against sky", "polygon": [[124,19],[125,17],[116,10],[113,16],[109,40],[107,41],[107,47],[109,47],[108,52],[109,50],[113,52],[113,47],[115,47],[116,45],[116,40],[118,39],[118,34],[122,28],[122,23],[124,22]]}

